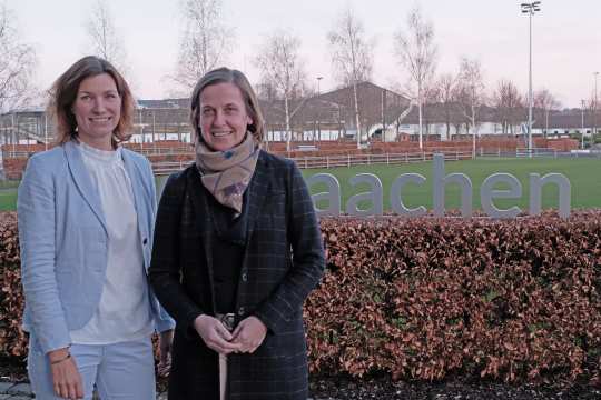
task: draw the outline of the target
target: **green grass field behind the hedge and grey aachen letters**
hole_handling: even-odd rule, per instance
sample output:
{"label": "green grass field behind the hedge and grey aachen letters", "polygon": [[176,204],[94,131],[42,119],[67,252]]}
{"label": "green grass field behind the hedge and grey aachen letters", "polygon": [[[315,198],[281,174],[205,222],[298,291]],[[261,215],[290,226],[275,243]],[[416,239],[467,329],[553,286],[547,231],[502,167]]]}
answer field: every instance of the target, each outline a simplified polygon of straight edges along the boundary
{"label": "green grass field behind the hedge and grey aachen letters", "polygon": [[[466,161],[446,161],[444,163],[445,173],[463,172],[472,180],[474,210],[480,206],[480,186],[486,177],[495,172],[506,172],[513,174],[522,183],[522,197],[520,199],[504,199],[495,201],[500,208],[518,206],[528,211],[530,188],[528,182],[529,173],[536,172],[541,176],[550,172],[560,172],[568,177],[572,186],[572,209],[601,208],[601,160],[599,159],[480,159]],[[393,180],[402,173],[421,173],[427,181],[425,184],[407,184],[403,191],[403,201],[407,207],[424,206],[432,208],[432,162],[420,162],[397,166],[358,166],[352,168],[334,169],[311,169],[304,170],[303,174],[309,177],[315,173],[327,172],[334,174],[342,187],[343,211],[348,198],[353,194],[370,191],[366,184],[351,187],[348,179],[357,173],[373,173],[380,178],[384,186],[384,209],[390,209],[390,188]],[[18,182],[0,183],[0,210],[14,210],[17,202]],[[325,188],[314,186],[313,193],[324,191]],[[503,189],[499,186],[496,189]],[[459,208],[459,188],[454,184],[446,187],[445,191],[446,209]],[[319,204],[324,207],[325,204]],[[362,207],[367,207],[363,204]],[[543,208],[555,208],[558,206],[558,190],[554,186],[543,189]]]}

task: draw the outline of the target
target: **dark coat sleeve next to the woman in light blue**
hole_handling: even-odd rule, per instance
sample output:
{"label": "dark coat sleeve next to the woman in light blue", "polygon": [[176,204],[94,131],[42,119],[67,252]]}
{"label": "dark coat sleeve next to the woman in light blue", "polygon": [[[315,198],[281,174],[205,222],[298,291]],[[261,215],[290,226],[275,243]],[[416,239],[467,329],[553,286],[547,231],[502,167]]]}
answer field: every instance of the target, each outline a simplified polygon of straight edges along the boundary
{"label": "dark coat sleeve next to the woman in light blue", "polygon": [[186,331],[204,311],[180,283],[179,221],[185,196],[184,179],[184,174],[173,174],[165,184],[155,224],[148,277],[160,303],[175,318],[177,326]]}

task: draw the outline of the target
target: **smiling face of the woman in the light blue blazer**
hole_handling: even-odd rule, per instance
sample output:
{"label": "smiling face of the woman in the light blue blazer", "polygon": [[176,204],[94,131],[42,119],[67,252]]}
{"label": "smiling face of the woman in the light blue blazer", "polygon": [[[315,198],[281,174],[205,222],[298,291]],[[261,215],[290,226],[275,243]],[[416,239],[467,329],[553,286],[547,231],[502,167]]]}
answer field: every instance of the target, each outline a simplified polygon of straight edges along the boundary
{"label": "smiling face of the woman in the light blue blazer", "polygon": [[121,118],[121,97],[110,74],[83,79],[71,110],[79,140],[97,149],[112,149],[112,132]]}

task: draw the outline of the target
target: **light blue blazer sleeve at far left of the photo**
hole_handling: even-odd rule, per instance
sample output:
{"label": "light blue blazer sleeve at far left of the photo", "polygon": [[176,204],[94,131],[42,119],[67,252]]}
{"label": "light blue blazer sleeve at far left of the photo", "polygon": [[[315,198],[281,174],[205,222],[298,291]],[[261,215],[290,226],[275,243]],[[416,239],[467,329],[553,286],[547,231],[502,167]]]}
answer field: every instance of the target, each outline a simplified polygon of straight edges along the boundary
{"label": "light blue blazer sleeve at far left of the photo", "polygon": [[45,353],[68,347],[69,329],[56,279],[55,180],[52,169],[36,156],[29,159],[19,186],[17,214],[21,280],[32,330]]}

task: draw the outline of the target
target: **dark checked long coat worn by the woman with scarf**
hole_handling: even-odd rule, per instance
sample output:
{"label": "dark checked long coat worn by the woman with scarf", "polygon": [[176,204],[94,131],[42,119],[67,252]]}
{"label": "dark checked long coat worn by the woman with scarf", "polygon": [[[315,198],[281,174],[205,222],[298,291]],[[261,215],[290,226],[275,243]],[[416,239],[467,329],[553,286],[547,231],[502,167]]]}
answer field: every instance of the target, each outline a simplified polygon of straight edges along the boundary
{"label": "dark checked long coat worn by the woman with scarf", "polygon": [[[313,202],[298,168],[260,152],[247,193],[248,234],[237,281],[236,319],[268,328],[253,354],[228,356],[229,399],[307,399],[303,302],[318,283],[324,251]],[[177,322],[169,399],[218,399],[218,354],[193,329],[214,314],[214,230],[207,197],[191,166],[171,176],[155,228],[150,282]]]}

